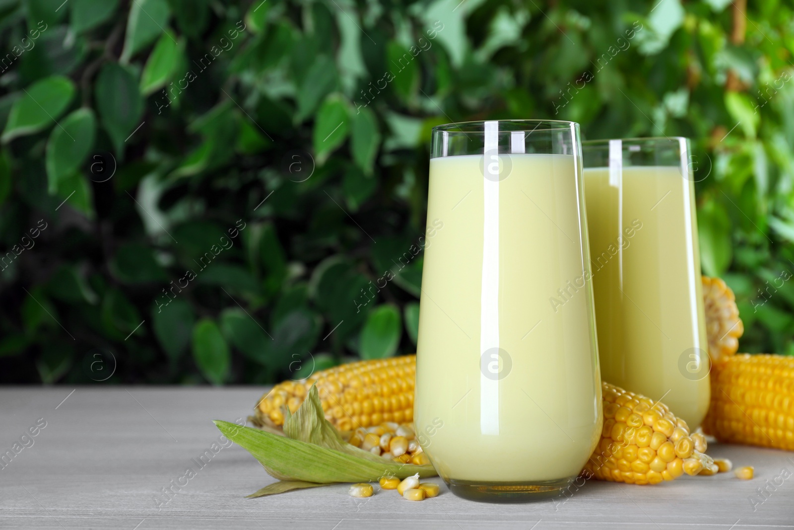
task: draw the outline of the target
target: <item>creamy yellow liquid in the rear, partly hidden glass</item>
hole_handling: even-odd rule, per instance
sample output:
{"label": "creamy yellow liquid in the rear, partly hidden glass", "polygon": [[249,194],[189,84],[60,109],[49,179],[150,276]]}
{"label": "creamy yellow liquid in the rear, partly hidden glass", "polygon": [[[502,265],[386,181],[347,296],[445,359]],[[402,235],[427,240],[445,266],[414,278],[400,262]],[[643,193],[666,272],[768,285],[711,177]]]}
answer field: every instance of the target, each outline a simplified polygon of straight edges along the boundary
{"label": "creamy yellow liquid in the rear, partly hidden glass", "polygon": [[608,168],[588,168],[584,188],[603,380],[661,399],[694,429],[709,378],[693,350],[707,342],[692,181],[659,166],[610,183]]}

